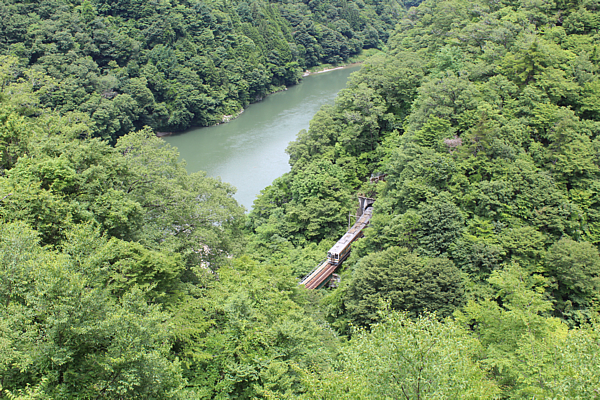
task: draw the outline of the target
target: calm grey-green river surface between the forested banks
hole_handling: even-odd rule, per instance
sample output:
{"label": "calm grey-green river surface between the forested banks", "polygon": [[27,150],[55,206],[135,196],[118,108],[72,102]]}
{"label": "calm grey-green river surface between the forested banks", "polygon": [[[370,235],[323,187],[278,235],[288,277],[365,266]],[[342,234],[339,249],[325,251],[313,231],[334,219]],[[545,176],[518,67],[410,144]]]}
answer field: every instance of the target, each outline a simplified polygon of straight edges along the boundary
{"label": "calm grey-green river surface between the forested banks", "polygon": [[237,188],[247,209],[262,189],[290,170],[285,149],[323,104],[333,104],[360,66],[309,75],[299,85],[250,105],[237,119],[164,139],[179,149],[187,171],[206,171]]}

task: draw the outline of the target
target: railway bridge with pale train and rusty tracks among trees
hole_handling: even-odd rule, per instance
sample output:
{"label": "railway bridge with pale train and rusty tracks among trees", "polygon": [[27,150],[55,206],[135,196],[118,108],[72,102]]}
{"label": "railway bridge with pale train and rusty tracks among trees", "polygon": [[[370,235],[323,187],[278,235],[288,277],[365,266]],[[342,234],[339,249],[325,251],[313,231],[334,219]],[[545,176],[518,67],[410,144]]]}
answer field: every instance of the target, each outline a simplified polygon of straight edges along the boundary
{"label": "railway bridge with pale train and rusty tracks among trees", "polygon": [[300,284],[307,289],[320,289],[325,286],[334,275],[335,271],[350,255],[352,242],[363,237],[363,230],[369,225],[373,215],[372,205],[375,199],[359,195],[356,222],[327,252],[327,258],[317,266],[310,274],[306,275]]}

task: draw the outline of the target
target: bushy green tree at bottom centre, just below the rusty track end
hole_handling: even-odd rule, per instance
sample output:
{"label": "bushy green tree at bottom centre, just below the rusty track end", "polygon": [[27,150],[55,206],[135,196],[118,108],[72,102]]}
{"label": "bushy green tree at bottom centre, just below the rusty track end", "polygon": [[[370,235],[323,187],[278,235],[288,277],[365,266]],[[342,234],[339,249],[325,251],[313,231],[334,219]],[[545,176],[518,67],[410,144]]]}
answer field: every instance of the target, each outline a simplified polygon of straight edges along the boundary
{"label": "bushy green tree at bottom centre, just below the rusty track end", "polygon": [[[176,332],[189,395],[260,398],[297,393],[301,382],[296,365],[318,362],[316,350],[335,342],[301,307],[301,289],[290,272],[244,257],[221,268],[212,287],[203,299],[188,300],[196,307],[178,306],[183,314],[177,317]],[[210,323],[202,324],[199,313]],[[196,329],[190,329],[190,321]]]}

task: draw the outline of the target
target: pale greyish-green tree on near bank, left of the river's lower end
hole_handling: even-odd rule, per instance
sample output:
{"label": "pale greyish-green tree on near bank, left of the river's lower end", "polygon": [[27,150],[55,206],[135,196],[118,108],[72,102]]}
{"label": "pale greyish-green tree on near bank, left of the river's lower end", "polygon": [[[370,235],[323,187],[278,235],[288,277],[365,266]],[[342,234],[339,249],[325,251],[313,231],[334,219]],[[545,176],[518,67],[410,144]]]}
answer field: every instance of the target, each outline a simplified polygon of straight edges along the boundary
{"label": "pale greyish-green tree on near bank, left of the river's lower end", "polygon": [[119,139],[115,151],[127,170],[119,189],[145,210],[143,244],[180,252],[188,265],[218,266],[239,248],[243,208],[229,184],[187,174],[177,151],[148,129]]}

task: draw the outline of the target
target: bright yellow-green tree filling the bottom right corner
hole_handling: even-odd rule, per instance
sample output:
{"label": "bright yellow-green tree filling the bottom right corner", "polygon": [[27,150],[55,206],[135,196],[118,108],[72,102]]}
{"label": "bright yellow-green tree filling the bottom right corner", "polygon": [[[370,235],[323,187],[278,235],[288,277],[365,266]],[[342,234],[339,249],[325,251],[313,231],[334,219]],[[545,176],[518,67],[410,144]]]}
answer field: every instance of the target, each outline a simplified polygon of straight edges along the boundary
{"label": "bright yellow-green tree filling the bottom right corner", "polygon": [[[490,366],[511,397],[585,398],[595,383],[597,329],[568,330],[547,314],[546,280],[513,264],[489,279],[499,303],[469,302],[458,319],[474,327]],[[501,304],[501,305],[500,305]],[[591,368],[588,370],[588,368]]]}

